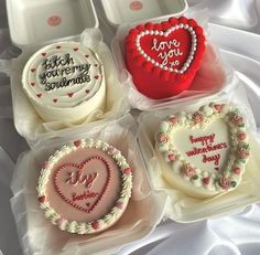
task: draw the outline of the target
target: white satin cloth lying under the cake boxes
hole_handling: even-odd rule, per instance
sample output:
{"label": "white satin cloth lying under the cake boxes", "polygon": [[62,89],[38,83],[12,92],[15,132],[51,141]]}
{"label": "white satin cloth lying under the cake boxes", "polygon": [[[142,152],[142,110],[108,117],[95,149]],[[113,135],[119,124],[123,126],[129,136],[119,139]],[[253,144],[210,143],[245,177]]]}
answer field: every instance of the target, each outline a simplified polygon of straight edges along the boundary
{"label": "white satin cloth lying under the cake boxes", "polygon": [[[109,26],[100,7],[95,1],[100,29],[110,42],[115,29]],[[223,56],[232,64],[247,83],[247,92],[260,126],[260,1],[259,0],[189,0],[193,8],[209,8],[212,21],[227,28],[213,25],[215,42],[228,50]],[[228,26],[253,32],[254,35],[230,30]],[[249,40],[250,36],[250,40]],[[246,43],[246,45],[245,45]],[[19,54],[11,45],[8,31],[4,0],[0,0],[0,67],[1,61]],[[251,59],[248,59],[250,56]],[[254,60],[252,60],[254,59]],[[256,67],[256,68],[254,68]],[[258,83],[259,82],[259,83]],[[9,183],[18,155],[28,146],[13,127],[9,79],[0,73],[0,255],[22,254],[10,210]],[[257,255],[260,254],[260,204],[248,206],[242,212],[216,220],[180,224],[162,222],[147,238],[124,246],[118,254],[155,255]]]}

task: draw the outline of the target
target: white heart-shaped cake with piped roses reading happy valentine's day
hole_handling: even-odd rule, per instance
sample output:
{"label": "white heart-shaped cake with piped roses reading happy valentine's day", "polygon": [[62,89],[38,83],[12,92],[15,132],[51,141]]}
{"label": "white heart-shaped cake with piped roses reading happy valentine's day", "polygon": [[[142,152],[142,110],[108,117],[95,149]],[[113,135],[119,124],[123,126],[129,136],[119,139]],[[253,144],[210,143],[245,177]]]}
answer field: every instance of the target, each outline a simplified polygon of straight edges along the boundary
{"label": "white heart-shaped cake with piped roses reading happy valentine's day", "polygon": [[245,117],[209,104],[161,123],[156,150],[163,178],[189,196],[208,198],[238,187],[250,155]]}

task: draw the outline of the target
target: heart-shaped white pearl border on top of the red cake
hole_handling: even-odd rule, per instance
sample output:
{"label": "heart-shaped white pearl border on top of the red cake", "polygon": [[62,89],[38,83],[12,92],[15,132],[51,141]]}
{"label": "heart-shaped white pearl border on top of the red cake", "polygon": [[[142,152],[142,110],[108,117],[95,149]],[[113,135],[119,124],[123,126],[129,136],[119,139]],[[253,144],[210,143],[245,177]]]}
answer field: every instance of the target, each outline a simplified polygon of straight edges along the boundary
{"label": "heart-shaped white pearl border on top of the red cake", "polygon": [[[162,64],[160,64],[159,62],[156,62],[155,60],[153,60],[152,57],[150,57],[141,47],[141,44],[140,44],[140,40],[141,38],[145,36],[145,35],[161,35],[161,36],[169,36],[170,33],[172,33],[173,31],[175,30],[178,30],[178,29],[185,29],[187,30],[191,35],[192,35],[192,47],[191,47],[191,51],[189,51],[189,55],[186,60],[186,62],[184,63],[183,67],[181,70],[176,70],[176,68],[172,68],[172,67],[167,67],[167,66],[164,66]],[[189,65],[192,64],[192,61],[194,59],[194,54],[197,50],[197,36],[196,36],[196,33],[194,31],[194,29],[188,25],[188,24],[176,24],[174,26],[172,26],[171,29],[169,29],[166,32],[163,32],[163,31],[159,31],[159,30],[144,30],[143,32],[141,32],[137,39],[136,39],[136,46],[139,51],[139,53],[148,61],[148,62],[151,62],[153,65],[155,65],[156,67],[160,67],[162,70],[165,70],[165,71],[170,71],[170,72],[175,72],[175,73],[180,73],[180,74],[183,74],[185,73]]]}

